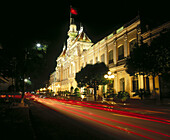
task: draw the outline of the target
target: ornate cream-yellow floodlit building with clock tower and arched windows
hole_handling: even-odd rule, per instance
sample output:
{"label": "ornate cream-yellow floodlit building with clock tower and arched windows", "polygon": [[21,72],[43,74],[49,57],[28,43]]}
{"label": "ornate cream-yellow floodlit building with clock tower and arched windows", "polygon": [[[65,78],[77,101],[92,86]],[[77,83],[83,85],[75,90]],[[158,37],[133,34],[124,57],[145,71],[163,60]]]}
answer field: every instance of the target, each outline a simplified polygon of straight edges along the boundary
{"label": "ornate cream-yellow floodlit building with clock tower and arched windows", "polygon": [[[137,89],[150,90],[152,93],[152,76],[130,76],[125,70],[125,61],[126,57],[133,51],[134,44],[140,45],[141,38],[144,43],[149,44],[166,28],[170,28],[170,23],[165,23],[142,34],[141,20],[136,17],[94,44],[82,26],[78,30],[74,22],[71,22],[67,46],[64,45],[62,53],[56,60],[55,71],[50,75],[51,89],[57,93],[58,91],[70,91],[71,87],[76,88],[75,76],[77,72],[81,71],[81,68],[87,64],[104,62],[114,75],[114,79],[112,79],[114,93],[127,91],[131,97]],[[102,95],[103,92],[107,92],[107,87],[107,85],[99,86],[97,94]],[[155,77],[155,89],[159,94],[158,77]]]}

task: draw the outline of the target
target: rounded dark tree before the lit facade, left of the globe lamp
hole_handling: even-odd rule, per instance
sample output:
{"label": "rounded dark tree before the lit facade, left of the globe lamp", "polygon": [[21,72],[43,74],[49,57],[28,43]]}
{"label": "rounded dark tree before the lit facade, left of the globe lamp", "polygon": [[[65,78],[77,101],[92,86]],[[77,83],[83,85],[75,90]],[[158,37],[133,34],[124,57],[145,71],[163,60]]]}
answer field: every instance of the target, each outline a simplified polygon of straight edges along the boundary
{"label": "rounded dark tree before the lit facade, left of the globe lamp", "polygon": [[96,91],[99,85],[106,85],[108,80],[104,75],[109,71],[109,68],[102,62],[94,65],[87,64],[80,72],[76,73],[76,81],[78,87],[88,86],[94,88],[94,98],[96,100]]}

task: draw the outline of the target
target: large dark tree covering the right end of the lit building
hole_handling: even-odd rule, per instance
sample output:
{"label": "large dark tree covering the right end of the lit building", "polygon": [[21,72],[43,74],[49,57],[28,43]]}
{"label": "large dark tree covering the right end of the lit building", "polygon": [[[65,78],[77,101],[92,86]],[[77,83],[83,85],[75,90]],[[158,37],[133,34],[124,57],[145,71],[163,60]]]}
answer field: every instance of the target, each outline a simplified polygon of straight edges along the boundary
{"label": "large dark tree covering the right end of the lit building", "polygon": [[152,75],[153,93],[155,93],[155,77],[170,72],[170,32],[161,33],[150,44],[136,44],[133,52],[126,60],[126,71],[130,75]]}

